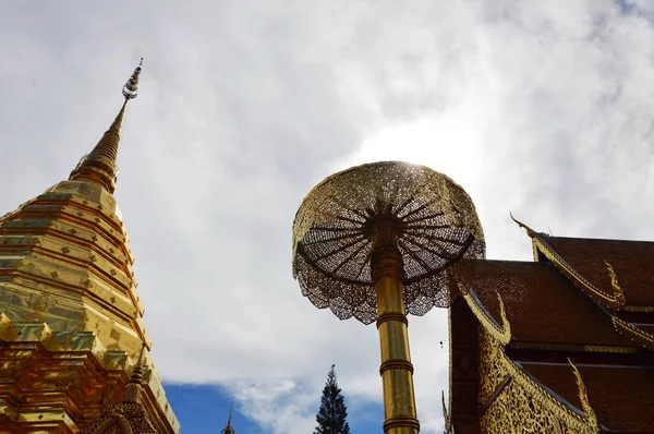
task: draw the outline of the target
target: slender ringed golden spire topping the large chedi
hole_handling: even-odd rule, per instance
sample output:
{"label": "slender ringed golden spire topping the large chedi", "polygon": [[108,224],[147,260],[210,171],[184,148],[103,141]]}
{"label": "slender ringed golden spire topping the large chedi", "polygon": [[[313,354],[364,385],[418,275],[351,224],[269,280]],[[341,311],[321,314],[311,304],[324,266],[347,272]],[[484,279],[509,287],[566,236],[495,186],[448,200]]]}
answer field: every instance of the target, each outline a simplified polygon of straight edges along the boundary
{"label": "slender ringed golden spire topping the large chedi", "polygon": [[143,65],[143,58],[122,88],[125,98],[118,116],[105,132],[93,150],[82,157],[77,167],[71,172],[70,180],[84,180],[100,184],[109,193],[116,190],[116,176],[118,173],[118,144],[120,142],[120,129],[125,114],[125,108],[130,99],[136,98],[138,91],[138,75]]}

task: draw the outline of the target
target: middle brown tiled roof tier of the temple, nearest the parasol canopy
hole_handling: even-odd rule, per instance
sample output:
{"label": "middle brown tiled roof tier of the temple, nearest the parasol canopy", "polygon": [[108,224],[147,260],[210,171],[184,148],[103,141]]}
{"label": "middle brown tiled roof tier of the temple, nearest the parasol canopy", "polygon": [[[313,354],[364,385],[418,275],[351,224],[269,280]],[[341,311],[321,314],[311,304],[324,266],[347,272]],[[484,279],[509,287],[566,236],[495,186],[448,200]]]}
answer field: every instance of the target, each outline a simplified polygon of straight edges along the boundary
{"label": "middle brown tiled roof tier of the temple, nearest the parasol canopy", "polygon": [[602,308],[549,263],[480,261],[471,287],[498,324],[497,293],[501,296],[513,341],[634,346],[615,330]]}

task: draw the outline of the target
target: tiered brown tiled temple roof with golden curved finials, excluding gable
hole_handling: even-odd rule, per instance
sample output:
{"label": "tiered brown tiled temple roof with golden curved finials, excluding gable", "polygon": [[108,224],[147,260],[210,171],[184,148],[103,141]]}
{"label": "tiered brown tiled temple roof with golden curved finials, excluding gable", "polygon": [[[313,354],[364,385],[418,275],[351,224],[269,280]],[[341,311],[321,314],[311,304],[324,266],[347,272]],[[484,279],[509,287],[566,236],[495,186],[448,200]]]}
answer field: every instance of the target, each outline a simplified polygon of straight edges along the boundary
{"label": "tiered brown tiled temple roof with golden curved finials, excluding gable", "polygon": [[[462,268],[468,281],[460,289],[476,322],[516,372],[582,414],[571,359],[603,432],[652,432],[654,242],[557,238],[518,224],[532,238],[536,262],[473,261]],[[452,346],[470,340],[457,339]],[[464,408],[465,389],[453,390]],[[495,398],[485,399],[487,409]]]}

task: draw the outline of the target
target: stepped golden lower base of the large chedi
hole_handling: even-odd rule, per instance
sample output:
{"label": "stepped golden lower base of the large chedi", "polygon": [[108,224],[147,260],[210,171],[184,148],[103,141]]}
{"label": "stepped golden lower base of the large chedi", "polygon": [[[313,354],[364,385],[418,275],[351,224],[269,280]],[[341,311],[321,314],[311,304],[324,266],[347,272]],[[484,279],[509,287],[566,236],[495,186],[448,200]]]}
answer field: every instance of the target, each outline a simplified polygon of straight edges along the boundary
{"label": "stepped golden lower base of the large chedi", "polygon": [[[0,314],[0,433],[73,434],[114,403],[134,364],[90,331],[53,333],[45,323]],[[159,378],[147,370],[142,402],[159,433],[181,427]],[[154,417],[153,417],[154,415]]]}

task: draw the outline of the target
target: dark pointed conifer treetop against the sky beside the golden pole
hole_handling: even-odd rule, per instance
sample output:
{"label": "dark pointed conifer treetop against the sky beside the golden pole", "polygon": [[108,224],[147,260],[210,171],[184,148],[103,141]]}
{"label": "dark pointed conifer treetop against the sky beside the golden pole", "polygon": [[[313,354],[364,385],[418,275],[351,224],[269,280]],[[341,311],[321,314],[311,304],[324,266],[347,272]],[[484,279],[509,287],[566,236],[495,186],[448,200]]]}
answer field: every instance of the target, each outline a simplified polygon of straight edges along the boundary
{"label": "dark pointed conifer treetop against the sky beside the golden pole", "polygon": [[327,374],[327,384],[323,389],[323,398],[320,399],[320,409],[316,414],[316,426],[314,434],[350,434],[350,425],[348,424],[348,408],[341,395],[341,389],[338,388],[336,381],[336,372],[334,365]]}

